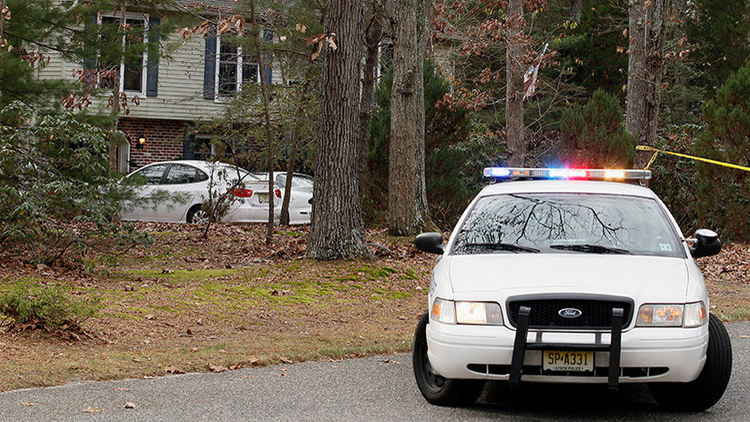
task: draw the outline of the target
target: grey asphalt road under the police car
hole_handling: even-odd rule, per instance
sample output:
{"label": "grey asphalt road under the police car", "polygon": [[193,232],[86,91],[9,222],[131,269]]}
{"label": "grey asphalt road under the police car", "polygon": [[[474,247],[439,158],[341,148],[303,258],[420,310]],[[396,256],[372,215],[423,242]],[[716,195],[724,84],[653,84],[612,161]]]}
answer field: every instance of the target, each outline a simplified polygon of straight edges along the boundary
{"label": "grey asphalt road under the police car", "polygon": [[[439,421],[750,420],[750,322],[727,326],[734,372],[722,400],[696,414],[666,413],[643,386],[529,386],[489,383],[467,408],[429,405],[410,355],[309,362],[156,379],[72,384],[0,393],[0,421]],[[133,408],[126,408],[126,403]]]}

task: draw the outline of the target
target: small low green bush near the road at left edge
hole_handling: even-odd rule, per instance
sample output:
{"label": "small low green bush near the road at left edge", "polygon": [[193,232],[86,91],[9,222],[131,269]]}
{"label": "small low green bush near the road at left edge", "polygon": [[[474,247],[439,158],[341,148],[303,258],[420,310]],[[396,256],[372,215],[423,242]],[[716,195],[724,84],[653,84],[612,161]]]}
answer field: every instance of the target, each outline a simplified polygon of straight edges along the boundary
{"label": "small low green bush near the road at left edge", "polygon": [[61,286],[23,280],[0,292],[0,314],[10,316],[16,325],[45,327],[48,331],[80,328],[101,309],[99,298],[77,299]]}

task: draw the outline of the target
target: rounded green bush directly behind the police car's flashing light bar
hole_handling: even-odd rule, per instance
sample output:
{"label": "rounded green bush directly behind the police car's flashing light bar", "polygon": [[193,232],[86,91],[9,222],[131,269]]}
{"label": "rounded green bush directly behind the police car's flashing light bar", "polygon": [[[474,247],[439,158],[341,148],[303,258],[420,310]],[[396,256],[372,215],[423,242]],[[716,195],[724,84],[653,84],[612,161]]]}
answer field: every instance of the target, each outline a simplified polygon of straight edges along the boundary
{"label": "rounded green bush directly behind the police car's flashing light bar", "polygon": [[560,135],[557,156],[565,166],[633,166],[636,140],[625,132],[623,107],[602,89],[585,106],[573,104],[563,110]]}

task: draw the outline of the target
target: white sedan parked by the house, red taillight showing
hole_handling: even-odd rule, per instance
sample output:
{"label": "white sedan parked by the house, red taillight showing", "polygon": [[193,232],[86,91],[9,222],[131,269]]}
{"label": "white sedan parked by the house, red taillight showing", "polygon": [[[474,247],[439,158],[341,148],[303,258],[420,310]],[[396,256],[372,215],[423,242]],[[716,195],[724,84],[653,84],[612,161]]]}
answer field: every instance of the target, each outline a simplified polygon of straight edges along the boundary
{"label": "white sedan parked by the house, red taillight showing", "polygon": [[[140,179],[139,200],[123,206],[124,220],[201,224],[208,221],[203,203],[229,192],[221,221],[263,223],[269,220],[269,184],[242,168],[224,163],[184,160],[149,164],[126,176]],[[238,183],[239,182],[239,183]],[[274,189],[274,218],[281,210],[281,190]]]}

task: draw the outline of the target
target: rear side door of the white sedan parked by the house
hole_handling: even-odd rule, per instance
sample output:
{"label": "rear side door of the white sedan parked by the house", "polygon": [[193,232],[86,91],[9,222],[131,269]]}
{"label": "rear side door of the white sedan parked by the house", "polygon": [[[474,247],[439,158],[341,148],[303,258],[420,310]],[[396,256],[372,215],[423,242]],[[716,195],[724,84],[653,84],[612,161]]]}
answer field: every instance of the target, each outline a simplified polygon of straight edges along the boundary
{"label": "rear side door of the white sedan parked by the house", "polygon": [[195,166],[182,163],[172,163],[167,168],[164,176],[164,184],[161,188],[165,191],[168,199],[157,206],[157,219],[182,223],[187,221],[187,210],[194,206],[200,194],[201,184],[199,181],[206,180],[205,175]]}

